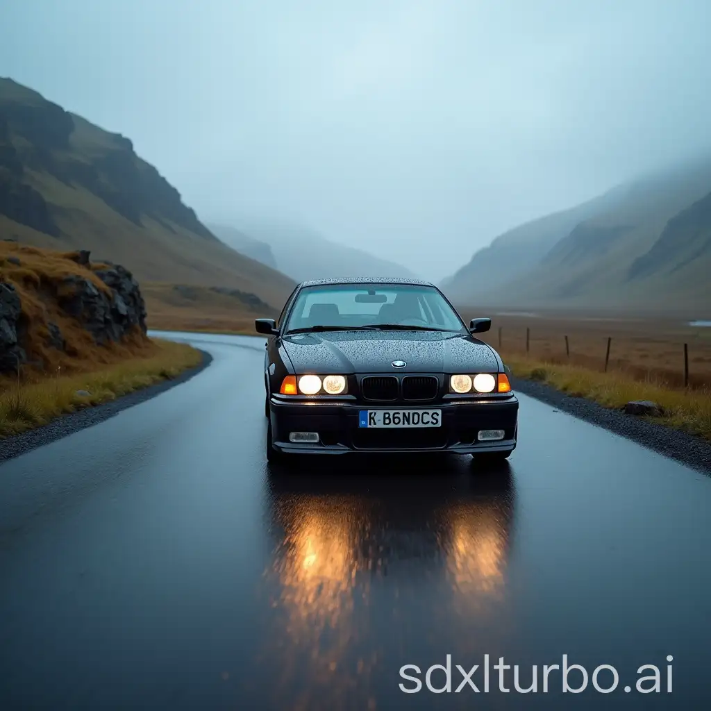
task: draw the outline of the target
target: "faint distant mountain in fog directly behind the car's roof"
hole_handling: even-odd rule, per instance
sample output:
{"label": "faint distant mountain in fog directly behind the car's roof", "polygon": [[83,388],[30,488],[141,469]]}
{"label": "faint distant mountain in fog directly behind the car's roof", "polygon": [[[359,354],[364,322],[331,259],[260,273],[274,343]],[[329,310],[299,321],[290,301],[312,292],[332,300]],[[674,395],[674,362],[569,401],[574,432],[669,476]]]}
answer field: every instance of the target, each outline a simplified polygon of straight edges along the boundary
{"label": "faint distant mountain in fog directly behind the car's roof", "polygon": [[[238,251],[249,248],[256,256],[269,247],[276,268],[296,281],[329,277],[415,277],[409,269],[382,260],[353,245],[339,245],[315,230],[286,220],[235,218],[232,225],[213,225],[213,232]],[[266,262],[265,262],[266,263]]]}

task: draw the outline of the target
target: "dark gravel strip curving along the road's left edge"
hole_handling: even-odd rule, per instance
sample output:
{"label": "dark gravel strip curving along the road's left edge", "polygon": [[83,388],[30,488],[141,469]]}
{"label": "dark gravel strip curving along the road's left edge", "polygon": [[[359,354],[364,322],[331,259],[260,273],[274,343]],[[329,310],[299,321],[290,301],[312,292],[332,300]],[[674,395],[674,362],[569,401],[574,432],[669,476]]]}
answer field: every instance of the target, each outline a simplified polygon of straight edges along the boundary
{"label": "dark gravel strip curving along the road's left edge", "polygon": [[197,375],[201,370],[207,368],[213,360],[210,353],[206,351],[200,352],[202,353],[201,363],[196,365],[195,368],[183,370],[176,378],[163,380],[161,383],[149,385],[142,390],[134,390],[134,392],[129,392],[127,395],[117,397],[116,400],[102,402],[100,405],[87,407],[85,410],[70,412],[67,415],[53,419],[52,422],[48,422],[48,424],[38,427],[37,429],[30,429],[27,432],[21,432],[13,437],[0,439],[0,462],[14,459],[14,457],[25,454],[25,452],[31,449],[56,442],[58,439],[62,439],[62,437],[67,437],[68,434],[73,434],[73,432],[78,432],[80,429],[85,429],[86,427],[91,427],[93,424],[104,422],[106,419],[109,419],[109,417],[118,415],[122,410],[126,410],[127,407],[139,405],[141,402],[150,400],[151,397],[160,395],[161,392],[170,390],[171,387],[185,383],[186,380],[190,380],[193,375]]}

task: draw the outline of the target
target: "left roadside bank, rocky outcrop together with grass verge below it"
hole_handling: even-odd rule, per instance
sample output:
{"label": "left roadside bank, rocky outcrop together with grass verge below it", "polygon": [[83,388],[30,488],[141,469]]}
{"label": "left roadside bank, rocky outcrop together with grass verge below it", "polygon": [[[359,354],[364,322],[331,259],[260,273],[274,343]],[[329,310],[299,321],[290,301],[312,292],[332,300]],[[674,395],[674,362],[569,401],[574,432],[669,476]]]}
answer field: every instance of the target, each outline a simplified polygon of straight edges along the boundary
{"label": "left roadside bank, rocky outcrop together with grass verge below it", "polygon": [[201,362],[146,336],[139,285],[117,269],[89,252],[0,242],[0,438]]}

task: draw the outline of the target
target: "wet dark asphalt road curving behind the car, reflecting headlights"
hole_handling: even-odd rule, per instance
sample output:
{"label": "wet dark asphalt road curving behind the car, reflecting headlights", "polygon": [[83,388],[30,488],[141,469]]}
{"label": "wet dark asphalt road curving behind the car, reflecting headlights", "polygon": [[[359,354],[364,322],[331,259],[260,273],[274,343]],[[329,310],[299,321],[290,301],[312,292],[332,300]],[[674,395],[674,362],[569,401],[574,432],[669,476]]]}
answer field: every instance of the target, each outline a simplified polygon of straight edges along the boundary
{"label": "wet dark asphalt road curving behind the car, reflecting headlights", "polygon": [[[203,373],[0,465],[1,709],[707,707],[709,477],[528,397],[502,471],[269,471],[262,343],[191,340]],[[447,653],[452,693],[399,690]],[[485,653],[538,693],[454,693]],[[619,687],[542,693],[563,653]]]}

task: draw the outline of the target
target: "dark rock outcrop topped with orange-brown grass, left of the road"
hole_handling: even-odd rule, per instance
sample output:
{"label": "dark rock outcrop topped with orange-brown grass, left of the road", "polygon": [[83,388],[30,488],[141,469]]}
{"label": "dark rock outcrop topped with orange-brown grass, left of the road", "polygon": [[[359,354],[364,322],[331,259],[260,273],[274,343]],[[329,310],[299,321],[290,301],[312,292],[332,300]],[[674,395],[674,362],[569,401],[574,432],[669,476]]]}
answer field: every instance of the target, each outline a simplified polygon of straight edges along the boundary
{"label": "dark rock outcrop topped with orange-brown grass, left of the road", "polygon": [[90,253],[0,243],[0,373],[101,361],[147,344],[139,284],[119,264]]}

